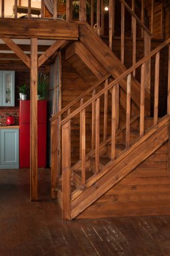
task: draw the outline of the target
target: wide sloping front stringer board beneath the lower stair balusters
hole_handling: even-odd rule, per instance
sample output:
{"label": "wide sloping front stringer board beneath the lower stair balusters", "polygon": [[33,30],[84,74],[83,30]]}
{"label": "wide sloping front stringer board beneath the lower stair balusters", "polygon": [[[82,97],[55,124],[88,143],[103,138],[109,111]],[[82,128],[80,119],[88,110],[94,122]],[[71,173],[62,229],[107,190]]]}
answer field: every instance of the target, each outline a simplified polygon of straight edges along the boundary
{"label": "wide sloping front stringer board beneath the lower stair balusters", "polygon": [[114,162],[109,163],[102,172],[95,174],[87,183],[75,191],[71,200],[71,219],[85,211],[101,195],[124,179],[138,164],[151,156],[168,139],[169,116],[151,128],[146,135],[123,152]]}

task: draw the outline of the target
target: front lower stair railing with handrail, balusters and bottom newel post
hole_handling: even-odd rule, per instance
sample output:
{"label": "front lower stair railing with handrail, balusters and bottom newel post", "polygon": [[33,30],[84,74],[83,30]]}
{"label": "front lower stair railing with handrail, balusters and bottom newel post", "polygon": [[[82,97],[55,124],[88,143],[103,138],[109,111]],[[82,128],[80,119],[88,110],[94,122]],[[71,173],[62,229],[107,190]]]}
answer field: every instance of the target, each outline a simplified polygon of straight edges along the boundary
{"label": "front lower stair railing with handrail, balusters and bottom newel post", "polygon": [[[60,122],[62,129],[62,214],[63,220],[70,220],[71,218],[71,125],[74,123],[75,117],[79,116],[79,123],[81,133],[79,133],[81,141],[81,182],[82,189],[87,183],[86,179],[86,113],[90,106],[93,109],[95,106],[95,116],[92,118],[95,120],[95,171],[94,174],[99,173],[99,143],[100,143],[100,121],[101,111],[100,103],[105,92],[112,90],[112,132],[111,143],[112,153],[111,161],[114,161],[116,157],[116,85],[120,83],[121,79],[127,79],[126,89],[126,150],[130,148],[130,115],[131,115],[131,81],[132,72],[135,69],[140,68],[140,137],[144,135],[144,69],[146,68],[146,62],[148,60],[155,61],[155,98],[154,98],[154,121],[153,125],[158,123],[158,109],[159,109],[159,75],[160,75],[160,55],[161,50],[166,46],[169,47],[168,51],[168,71],[167,71],[167,114],[170,115],[170,39],[160,44],[157,49],[153,50],[146,57],[138,61],[134,66],[130,67],[127,71],[122,73],[120,77],[114,81],[108,83],[105,88],[100,90],[97,94],[94,94],[87,102],[82,102],[81,106],[70,113],[65,119]],[[92,133],[93,134],[93,133]]]}

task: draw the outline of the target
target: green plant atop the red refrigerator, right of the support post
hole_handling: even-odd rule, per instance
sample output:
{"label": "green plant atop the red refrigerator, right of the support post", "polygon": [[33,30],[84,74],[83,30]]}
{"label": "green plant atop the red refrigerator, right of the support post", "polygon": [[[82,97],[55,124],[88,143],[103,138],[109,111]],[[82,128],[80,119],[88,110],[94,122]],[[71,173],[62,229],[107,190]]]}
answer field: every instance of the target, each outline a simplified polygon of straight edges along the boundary
{"label": "green plant atop the red refrigerator, right of the support post", "polygon": [[38,74],[38,100],[46,100],[48,96],[48,75],[46,73]]}

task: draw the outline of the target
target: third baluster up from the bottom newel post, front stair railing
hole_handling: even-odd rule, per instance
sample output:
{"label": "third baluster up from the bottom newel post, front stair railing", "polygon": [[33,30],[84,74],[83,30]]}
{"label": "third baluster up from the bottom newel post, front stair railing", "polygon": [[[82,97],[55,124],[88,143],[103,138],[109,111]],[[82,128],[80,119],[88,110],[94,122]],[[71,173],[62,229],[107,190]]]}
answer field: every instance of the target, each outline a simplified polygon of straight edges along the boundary
{"label": "third baluster up from the bottom newel post, front stair railing", "polygon": [[112,88],[112,150],[111,159],[116,157],[116,86]]}

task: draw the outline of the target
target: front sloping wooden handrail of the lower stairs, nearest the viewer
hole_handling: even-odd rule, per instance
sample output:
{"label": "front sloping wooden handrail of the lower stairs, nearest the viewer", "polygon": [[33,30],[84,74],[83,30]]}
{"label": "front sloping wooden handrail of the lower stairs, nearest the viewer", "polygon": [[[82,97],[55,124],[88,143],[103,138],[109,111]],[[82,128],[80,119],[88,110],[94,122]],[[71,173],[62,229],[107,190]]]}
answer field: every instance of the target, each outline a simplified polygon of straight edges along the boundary
{"label": "front sloping wooden handrail of the lower stairs, nearest the viewer", "polygon": [[72,119],[75,115],[77,115],[81,110],[83,110],[84,108],[86,108],[87,106],[89,106],[89,104],[91,104],[94,100],[97,100],[97,98],[99,98],[102,94],[104,94],[107,90],[110,90],[113,86],[116,86],[116,84],[118,84],[120,82],[120,80],[124,79],[124,77],[126,77],[127,75],[129,75],[130,73],[132,73],[132,71],[134,71],[134,69],[136,69],[137,67],[139,67],[140,65],[142,65],[145,61],[147,61],[148,59],[151,59],[151,57],[153,57],[153,55],[155,55],[156,53],[158,53],[159,51],[161,51],[161,49],[163,49],[165,46],[167,46],[167,44],[170,43],[170,38],[167,39],[165,42],[163,42],[162,44],[160,44],[157,48],[155,48],[153,51],[151,51],[151,53],[149,53],[146,57],[142,58],[140,61],[138,61],[135,65],[133,65],[132,67],[130,67],[129,69],[127,69],[124,73],[122,73],[122,75],[120,75],[118,78],[114,79],[113,82],[110,82],[110,84],[108,84],[107,87],[103,88],[100,92],[98,92],[97,94],[95,94],[95,96],[93,96],[92,98],[90,98],[89,100],[87,100],[87,102],[85,102],[82,106],[80,106],[79,108],[77,108],[75,111],[73,111],[68,117],[66,117],[65,119],[63,119],[61,121],[61,125],[64,125],[65,123],[67,123],[67,121],[69,121],[70,119]]}

